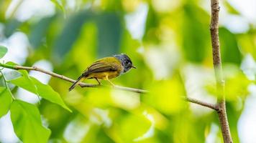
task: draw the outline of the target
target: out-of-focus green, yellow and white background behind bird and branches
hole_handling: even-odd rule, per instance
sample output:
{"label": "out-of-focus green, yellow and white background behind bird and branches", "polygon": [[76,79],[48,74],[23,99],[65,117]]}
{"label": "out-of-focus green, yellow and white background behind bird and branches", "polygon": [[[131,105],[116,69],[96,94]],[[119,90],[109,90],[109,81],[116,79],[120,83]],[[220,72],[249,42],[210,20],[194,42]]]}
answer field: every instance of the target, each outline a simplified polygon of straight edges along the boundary
{"label": "out-of-focus green, yellow and white background behind bird and branches", "polygon": [[[229,126],[234,142],[255,142],[256,1],[220,2]],[[1,62],[73,79],[113,54],[125,53],[137,66],[112,82],[149,94],[68,92],[70,83],[30,71],[73,110],[14,88],[15,97],[40,109],[49,142],[222,142],[216,112],[181,98],[216,102],[209,21],[209,0],[1,0],[0,44],[9,49]],[[0,119],[0,142],[20,142],[9,113]]]}

